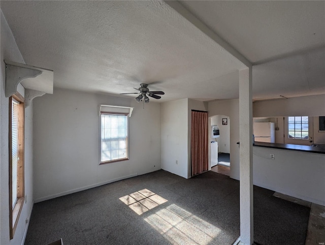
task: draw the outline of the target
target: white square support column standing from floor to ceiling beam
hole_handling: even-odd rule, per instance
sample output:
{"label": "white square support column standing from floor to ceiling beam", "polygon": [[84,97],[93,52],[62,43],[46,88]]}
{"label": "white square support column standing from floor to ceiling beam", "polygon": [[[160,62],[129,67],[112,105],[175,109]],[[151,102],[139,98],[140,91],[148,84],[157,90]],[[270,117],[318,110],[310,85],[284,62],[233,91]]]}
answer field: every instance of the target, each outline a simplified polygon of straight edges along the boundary
{"label": "white square support column standing from floor to ceiling beam", "polygon": [[239,71],[240,244],[253,243],[252,67]]}

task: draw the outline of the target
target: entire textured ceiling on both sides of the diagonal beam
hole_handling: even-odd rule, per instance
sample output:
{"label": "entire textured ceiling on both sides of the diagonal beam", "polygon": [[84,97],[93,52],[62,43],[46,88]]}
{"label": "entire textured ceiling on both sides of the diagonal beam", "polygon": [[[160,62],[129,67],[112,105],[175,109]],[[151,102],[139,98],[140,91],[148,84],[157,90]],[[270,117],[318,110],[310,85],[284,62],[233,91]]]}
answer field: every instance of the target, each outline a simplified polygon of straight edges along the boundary
{"label": "entire textured ceiling on both sides of the diagonal beam", "polygon": [[[325,3],[260,2],[182,5],[258,63],[254,98],[325,93]],[[238,98],[245,66],[165,2],[0,4],[26,64],[54,70],[55,87],[118,95],[146,82],[165,91],[159,102]]]}

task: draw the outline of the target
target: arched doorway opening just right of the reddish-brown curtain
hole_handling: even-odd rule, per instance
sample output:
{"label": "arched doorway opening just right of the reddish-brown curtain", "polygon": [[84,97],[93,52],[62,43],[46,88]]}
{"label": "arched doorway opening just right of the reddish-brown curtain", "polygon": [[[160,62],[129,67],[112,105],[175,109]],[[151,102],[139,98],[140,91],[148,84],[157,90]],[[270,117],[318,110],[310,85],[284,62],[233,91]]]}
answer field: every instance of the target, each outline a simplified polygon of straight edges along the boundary
{"label": "arched doorway opening just right of the reddish-brown curtain", "polygon": [[[210,117],[211,127],[217,126],[219,135],[211,134],[211,170],[221,169],[222,174],[230,171],[230,117],[214,115]],[[217,160],[215,157],[217,156]]]}

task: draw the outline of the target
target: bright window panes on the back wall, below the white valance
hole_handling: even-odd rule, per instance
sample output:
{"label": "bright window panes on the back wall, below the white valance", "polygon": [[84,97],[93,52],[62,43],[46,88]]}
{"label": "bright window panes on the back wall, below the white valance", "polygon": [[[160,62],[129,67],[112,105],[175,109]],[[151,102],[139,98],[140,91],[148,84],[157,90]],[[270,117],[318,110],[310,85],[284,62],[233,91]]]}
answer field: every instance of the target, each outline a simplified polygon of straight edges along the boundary
{"label": "bright window panes on the back wall, below the white valance", "polygon": [[128,160],[127,114],[101,112],[101,164]]}

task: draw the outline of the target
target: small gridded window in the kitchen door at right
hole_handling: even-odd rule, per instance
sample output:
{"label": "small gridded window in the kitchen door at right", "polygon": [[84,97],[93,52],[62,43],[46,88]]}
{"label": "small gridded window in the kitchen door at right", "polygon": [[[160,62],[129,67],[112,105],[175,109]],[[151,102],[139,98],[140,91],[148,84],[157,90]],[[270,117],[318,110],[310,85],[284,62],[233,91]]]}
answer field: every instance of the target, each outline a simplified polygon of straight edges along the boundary
{"label": "small gridded window in the kitchen door at right", "polygon": [[308,139],[308,116],[288,117],[288,138]]}

